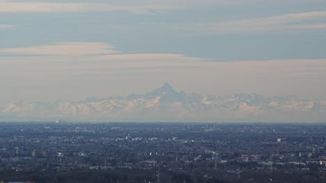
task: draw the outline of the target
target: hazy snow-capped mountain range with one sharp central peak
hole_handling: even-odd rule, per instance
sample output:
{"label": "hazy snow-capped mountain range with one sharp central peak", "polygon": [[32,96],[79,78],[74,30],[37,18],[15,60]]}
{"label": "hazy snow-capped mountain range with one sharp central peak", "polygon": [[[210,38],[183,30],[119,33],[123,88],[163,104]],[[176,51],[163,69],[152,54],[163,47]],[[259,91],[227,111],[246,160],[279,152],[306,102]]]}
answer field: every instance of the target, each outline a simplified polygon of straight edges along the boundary
{"label": "hazy snow-capped mountain range with one sharp central peak", "polygon": [[258,94],[202,96],[169,83],[147,94],[0,106],[0,121],[325,122],[326,100]]}

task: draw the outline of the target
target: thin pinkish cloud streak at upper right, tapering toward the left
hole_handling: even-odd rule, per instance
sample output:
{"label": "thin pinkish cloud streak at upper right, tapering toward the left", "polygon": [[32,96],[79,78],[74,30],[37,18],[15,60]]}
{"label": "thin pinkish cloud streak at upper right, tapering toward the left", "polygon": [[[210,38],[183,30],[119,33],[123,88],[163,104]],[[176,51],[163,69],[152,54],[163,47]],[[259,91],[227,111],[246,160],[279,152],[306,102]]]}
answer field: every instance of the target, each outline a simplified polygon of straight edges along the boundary
{"label": "thin pinkish cloud streak at upper right, tapering toward the left", "polygon": [[174,28],[195,33],[256,33],[273,30],[305,30],[326,28],[326,11],[302,12],[258,19],[176,25]]}

